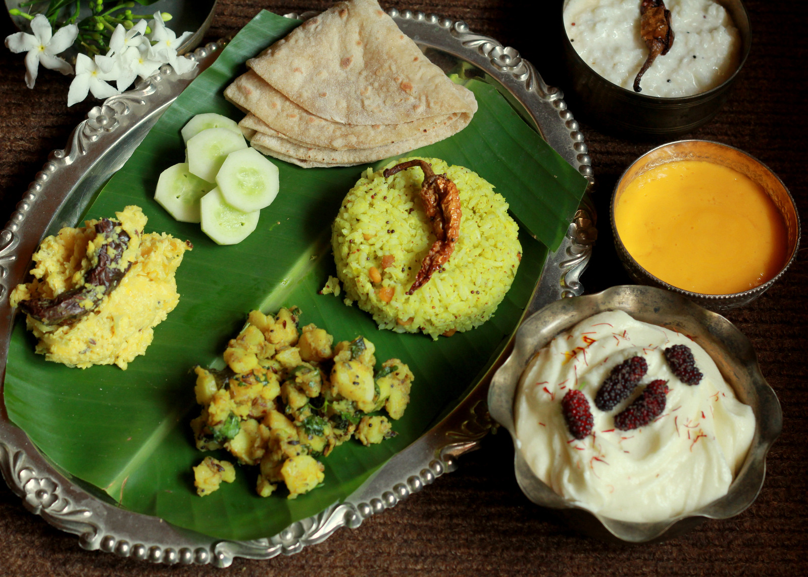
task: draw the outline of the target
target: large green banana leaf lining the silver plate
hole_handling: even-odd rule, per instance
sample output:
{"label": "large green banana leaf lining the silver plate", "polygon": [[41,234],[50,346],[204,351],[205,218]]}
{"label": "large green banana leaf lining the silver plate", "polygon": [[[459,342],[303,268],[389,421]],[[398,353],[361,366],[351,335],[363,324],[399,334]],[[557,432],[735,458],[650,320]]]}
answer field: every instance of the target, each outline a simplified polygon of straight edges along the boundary
{"label": "large green banana leaf lining the silver plate", "polygon": [[[302,169],[276,162],[281,192],[263,209],[258,229],[238,245],[217,246],[199,225],[174,221],[155,203],[158,175],[183,162],[179,130],[192,116],[218,112],[240,118],[221,92],[243,71],[246,58],[297,24],[262,12],[242,29],[166,110],[88,209],[86,217],[98,218],[137,204],[149,217],[147,230],[164,231],[194,245],[177,273],[179,305],[156,328],[146,355],[126,371],[114,366],[69,369],[34,353],[35,339],[24,330],[22,319],[9,350],[8,413],[60,470],[98,487],[121,507],[213,537],[267,537],[346,499],[454,406],[516,330],[547,246],[561,242],[586,185],[493,86],[469,82],[480,104],[472,123],[415,154],[468,166],[494,183],[522,224],[523,258],[494,318],[438,341],[379,331],[356,306],[318,294],[327,277],[335,275],[330,221],[359,178],[361,166]],[[314,322],[335,340],[364,335],[376,344],[380,362],[395,356],[410,365],[415,385],[406,414],[393,423],[398,436],[372,447],[343,444],[322,459],[324,485],[294,500],[285,499],[284,490],[265,499],[257,496],[256,473],[248,468],[238,469],[232,485],[200,498],[191,466],[205,453],[196,450],[189,427],[199,414],[191,369],[221,364],[227,341],[250,310],[275,311],[284,305],[300,307],[303,324]]]}

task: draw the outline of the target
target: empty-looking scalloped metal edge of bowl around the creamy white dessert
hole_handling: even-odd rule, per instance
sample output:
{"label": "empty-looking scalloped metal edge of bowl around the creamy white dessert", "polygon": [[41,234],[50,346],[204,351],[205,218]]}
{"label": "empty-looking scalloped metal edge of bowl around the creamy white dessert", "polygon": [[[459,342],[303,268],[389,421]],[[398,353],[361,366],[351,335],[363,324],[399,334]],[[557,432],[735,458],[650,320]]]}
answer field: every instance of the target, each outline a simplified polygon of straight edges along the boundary
{"label": "empty-looking scalloped metal edge of bowl around the creamy white dessert", "polygon": [[[738,398],[755,414],[755,436],[741,470],[721,499],[686,515],[657,523],[633,523],[601,516],[571,503],[541,482],[522,457],[514,427],[514,397],[528,361],[558,333],[584,318],[624,310],[643,322],[692,335],[715,361]],[[602,293],[556,301],[533,314],[516,333],[511,356],[494,374],[488,391],[490,415],[511,432],[516,481],[533,503],[557,512],[573,529],[607,541],[640,543],[675,537],[705,519],[727,519],[755,501],[766,473],[766,453],[782,429],[780,402],[760,373],[749,340],[721,315],[675,293],[649,286],[617,286]]]}

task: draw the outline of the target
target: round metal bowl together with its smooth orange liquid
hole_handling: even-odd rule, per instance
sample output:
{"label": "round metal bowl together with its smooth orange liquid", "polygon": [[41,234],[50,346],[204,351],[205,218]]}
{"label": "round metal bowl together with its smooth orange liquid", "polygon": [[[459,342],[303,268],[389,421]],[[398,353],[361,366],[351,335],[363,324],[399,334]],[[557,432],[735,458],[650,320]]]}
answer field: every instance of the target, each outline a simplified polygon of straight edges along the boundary
{"label": "round metal bowl together with its smooth orange liquid", "polygon": [[640,284],[711,310],[760,297],[797,256],[800,220],[788,189],[762,162],[710,141],[643,154],[612,195],[617,255]]}

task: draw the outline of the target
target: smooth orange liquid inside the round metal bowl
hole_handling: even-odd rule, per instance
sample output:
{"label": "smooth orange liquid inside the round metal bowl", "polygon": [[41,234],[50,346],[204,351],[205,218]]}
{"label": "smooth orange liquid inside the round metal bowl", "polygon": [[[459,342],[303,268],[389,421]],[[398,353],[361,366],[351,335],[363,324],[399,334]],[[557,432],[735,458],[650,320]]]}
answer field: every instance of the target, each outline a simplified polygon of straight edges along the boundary
{"label": "smooth orange liquid inside the round metal bowl", "polygon": [[646,271],[693,293],[754,289],[785,264],[776,205],[747,176],[713,162],[667,162],[638,175],[617,198],[614,221]]}

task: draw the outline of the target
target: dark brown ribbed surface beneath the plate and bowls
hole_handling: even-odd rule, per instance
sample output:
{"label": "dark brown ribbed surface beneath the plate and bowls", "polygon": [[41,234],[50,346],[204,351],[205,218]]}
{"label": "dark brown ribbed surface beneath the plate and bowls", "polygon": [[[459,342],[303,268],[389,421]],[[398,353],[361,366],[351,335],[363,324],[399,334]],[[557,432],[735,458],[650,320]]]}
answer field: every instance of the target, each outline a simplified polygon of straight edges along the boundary
{"label": "dark brown ribbed surface beneath the plate and bowls", "polygon": [[[560,0],[555,0],[560,2]],[[527,6],[553,0],[444,0],[398,6],[463,19],[474,32],[497,38],[532,61],[551,84],[564,88],[555,62],[558,44],[541,19],[525,18]],[[208,39],[242,27],[260,8],[279,14],[321,11],[330,2],[219,0]],[[768,164],[789,187],[800,213],[808,214],[805,137],[805,2],[748,0],[752,50],[730,100],[692,137],[721,141]],[[523,14],[520,16],[520,13]],[[0,15],[0,33],[14,32]],[[66,107],[69,77],[40,69],[36,89],[24,82],[22,55],[0,48],[0,221],[48,152],[61,149],[92,99]],[[572,111],[584,117],[585,111]],[[612,248],[608,198],[630,162],[653,145],[598,132],[582,123],[599,190],[600,242],[583,276],[587,292],[628,283]],[[727,242],[732,242],[727,231]],[[521,494],[512,472],[511,440],[488,437],[482,449],[461,459],[457,472],[406,499],[360,529],[342,529],[292,557],[237,559],[212,566],[154,566],[79,548],[76,537],[32,516],[0,482],[0,575],[808,575],[806,470],[808,470],[808,265],[806,249],[764,297],[726,316],[752,341],[760,365],[783,408],[780,440],[768,457],[760,497],[730,520],[706,521],[673,541],[614,546],[579,537],[553,523]]]}

